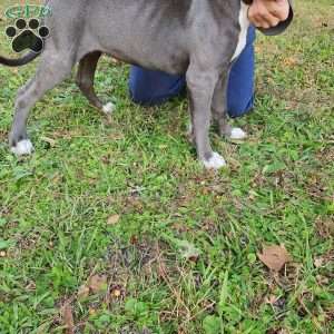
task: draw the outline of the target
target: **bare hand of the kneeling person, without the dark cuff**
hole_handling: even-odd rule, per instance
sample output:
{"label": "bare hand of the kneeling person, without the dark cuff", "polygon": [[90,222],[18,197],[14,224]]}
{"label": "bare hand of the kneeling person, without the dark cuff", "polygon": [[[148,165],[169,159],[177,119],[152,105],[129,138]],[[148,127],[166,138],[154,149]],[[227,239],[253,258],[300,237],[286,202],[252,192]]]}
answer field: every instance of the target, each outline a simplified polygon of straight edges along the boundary
{"label": "bare hand of the kneeling person, without the dark cuff", "polygon": [[276,27],[288,18],[287,0],[254,0],[248,9],[248,19],[257,28]]}

